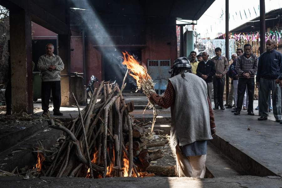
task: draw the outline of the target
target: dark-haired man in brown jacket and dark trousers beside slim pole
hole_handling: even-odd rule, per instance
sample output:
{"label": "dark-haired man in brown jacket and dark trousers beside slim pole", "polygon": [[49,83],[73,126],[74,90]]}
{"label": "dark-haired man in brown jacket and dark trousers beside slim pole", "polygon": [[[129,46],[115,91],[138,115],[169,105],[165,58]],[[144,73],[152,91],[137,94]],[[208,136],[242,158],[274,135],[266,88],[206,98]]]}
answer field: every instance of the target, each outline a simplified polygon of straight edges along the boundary
{"label": "dark-haired man in brown jacket and dark trousers beside slim pole", "polygon": [[229,63],[226,57],[221,55],[221,48],[216,48],[216,56],[212,58],[212,61],[216,67],[216,75],[213,77],[213,99],[214,110],[218,110],[218,106],[221,110],[224,110],[223,106],[223,93],[225,85],[225,74],[227,73]]}

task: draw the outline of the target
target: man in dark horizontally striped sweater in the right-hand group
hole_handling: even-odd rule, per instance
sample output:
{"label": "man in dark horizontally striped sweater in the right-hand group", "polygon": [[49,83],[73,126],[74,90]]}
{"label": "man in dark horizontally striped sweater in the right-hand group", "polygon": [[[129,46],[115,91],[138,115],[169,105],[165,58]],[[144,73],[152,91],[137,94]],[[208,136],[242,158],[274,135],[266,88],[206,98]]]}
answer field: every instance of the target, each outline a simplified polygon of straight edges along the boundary
{"label": "man in dark horizontally striped sweater in the right-hand group", "polygon": [[238,99],[237,99],[237,109],[234,113],[239,115],[243,105],[243,98],[246,91],[246,86],[248,88],[248,115],[253,116],[253,94],[254,94],[254,76],[258,70],[258,57],[252,54],[252,45],[244,45],[244,54],[240,55],[236,61],[236,71],[238,72]]}

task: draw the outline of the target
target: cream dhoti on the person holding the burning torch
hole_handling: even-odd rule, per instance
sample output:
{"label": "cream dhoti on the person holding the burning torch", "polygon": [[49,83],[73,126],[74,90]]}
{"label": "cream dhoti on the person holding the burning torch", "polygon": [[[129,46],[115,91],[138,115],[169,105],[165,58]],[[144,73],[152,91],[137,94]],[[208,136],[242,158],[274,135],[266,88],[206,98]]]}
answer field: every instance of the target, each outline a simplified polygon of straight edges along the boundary
{"label": "cream dhoti on the person holding the burning torch", "polygon": [[179,144],[175,147],[175,174],[178,177],[204,178],[206,173],[206,155],[188,156],[182,154]]}

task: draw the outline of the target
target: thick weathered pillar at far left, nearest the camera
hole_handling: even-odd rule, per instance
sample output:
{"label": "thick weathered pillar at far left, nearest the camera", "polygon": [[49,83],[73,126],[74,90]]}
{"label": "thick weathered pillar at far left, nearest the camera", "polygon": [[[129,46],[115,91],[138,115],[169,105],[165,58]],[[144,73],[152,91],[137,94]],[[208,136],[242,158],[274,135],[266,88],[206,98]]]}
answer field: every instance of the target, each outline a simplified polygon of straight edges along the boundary
{"label": "thick weathered pillar at far left, nearest the camera", "polygon": [[31,16],[10,9],[12,111],[33,113]]}

